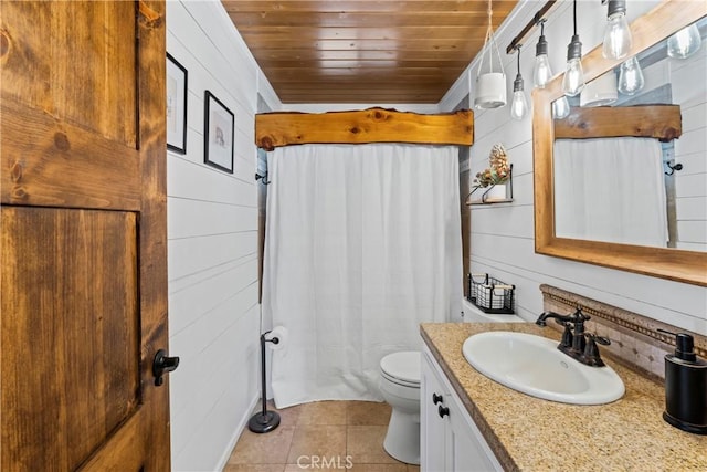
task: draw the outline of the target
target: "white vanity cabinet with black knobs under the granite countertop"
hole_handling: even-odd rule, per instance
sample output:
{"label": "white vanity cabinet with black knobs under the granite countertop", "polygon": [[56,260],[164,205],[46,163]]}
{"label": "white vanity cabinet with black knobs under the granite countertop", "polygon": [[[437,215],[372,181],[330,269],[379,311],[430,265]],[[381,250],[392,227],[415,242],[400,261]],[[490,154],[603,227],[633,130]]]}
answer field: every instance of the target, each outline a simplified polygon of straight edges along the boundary
{"label": "white vanity cabinet with black knobs under the granite countertop", "polygon": [[421,471],[502,471],[428,346],[420,381]]}

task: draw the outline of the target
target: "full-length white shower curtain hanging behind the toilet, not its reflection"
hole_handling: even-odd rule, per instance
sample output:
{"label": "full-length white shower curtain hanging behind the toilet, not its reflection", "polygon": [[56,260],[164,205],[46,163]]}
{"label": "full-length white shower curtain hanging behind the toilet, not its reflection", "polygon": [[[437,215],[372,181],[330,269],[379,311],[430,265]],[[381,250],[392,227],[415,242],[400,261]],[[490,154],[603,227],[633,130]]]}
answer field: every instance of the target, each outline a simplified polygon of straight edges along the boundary
{"label": "full-length white shower curtain hanging behind the toilet, not its reflection", "polygon": [[462,300],[456,147],[307,145],[271,155],[263,314],[278,408],[380,400],[378,365]]}

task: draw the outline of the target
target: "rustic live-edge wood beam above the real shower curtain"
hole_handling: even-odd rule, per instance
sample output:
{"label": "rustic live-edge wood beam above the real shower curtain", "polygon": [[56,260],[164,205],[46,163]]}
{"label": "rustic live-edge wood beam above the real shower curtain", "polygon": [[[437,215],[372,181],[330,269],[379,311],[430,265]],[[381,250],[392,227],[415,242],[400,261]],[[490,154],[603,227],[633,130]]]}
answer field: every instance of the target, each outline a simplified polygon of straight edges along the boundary
{"label": "rustic live-edge wood beam above the real shower curtain", "polygon": [[422,115],[368,108],[328,113],[264,113],[255,115],[255,144],[265,150],[300,144],[412,143],[471,146],[474,114]]}

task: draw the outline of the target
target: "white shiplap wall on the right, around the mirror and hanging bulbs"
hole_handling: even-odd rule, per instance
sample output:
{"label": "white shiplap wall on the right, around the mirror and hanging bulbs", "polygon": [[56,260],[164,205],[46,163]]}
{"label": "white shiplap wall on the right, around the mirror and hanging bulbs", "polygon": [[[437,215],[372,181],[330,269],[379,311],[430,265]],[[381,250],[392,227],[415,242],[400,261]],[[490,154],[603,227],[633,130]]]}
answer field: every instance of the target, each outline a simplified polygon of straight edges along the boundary
{"label": "white shiplap wall on the right, around the mirror and hanging bulbs", "polygon": [[[629,19],[643,14],[657,1],[629,2]],[[498,45],[505,51],[510,40],[532,18],[542,4],[525,1],[496,32]],[[567,44],[572,34],[572,2],[558,7],[545,29],[549,42],[549,57],[553,72],[562,72]],[[578,31],[583,53],[599,44],[603,33],[606,9],[599,1],[578,2]],[[521,50],[521,73],[526,91],[532,87],[535,44],[539,31],[530,36]],[[705,48],[705,45],[703,45]],[[441,111],[451,111],[464,95],[474,96],[478,57],[447,92],[440,103]],[[516,56],[504,55],[508,97],[516,75]],[[704,76],[700,77],[704,80]],[[705,105],[700,105],[703,113]],[[534,183],[532,183],[532,118],[510,119],[508,107],[474,112],[475,143],[472,146],[472,178],[488,166],[488,153],[495,143],[503,143],[514,164],[514,202],[472,208],[471,266],[473,272],[488,272],[516,284],[519,315],[535,319],[542,310],[539,285],[551,284],[591,298],[669,323],[685,329],[707,334],[707,290],[689,284],[648,277],[624,271],[604,269],[580,262],[566,261],[535,253]],[[704,137],[704,128],[700,132]],[[682,139],[680,139],[682,140]],[[676,149],[677,150],[677,149]],[[704,158],[705,153],[699,153]],[[703,159],[704,160],[704,159]],[[682,177],[680,177],[682,178]],[[686,177],[685,177],[686,178]],[[703,174],[704,179],[704,174]]]}

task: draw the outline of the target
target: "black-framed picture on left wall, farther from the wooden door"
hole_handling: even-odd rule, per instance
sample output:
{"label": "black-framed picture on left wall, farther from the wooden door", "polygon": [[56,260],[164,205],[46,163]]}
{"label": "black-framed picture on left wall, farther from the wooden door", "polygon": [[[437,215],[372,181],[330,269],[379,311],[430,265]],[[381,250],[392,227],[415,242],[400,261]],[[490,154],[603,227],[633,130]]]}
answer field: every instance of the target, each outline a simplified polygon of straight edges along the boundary
{"label": "black-framed picture on left wall, farther from the wooden door", "polygon": [[209,91],[205,96],[203,161],[209,166],[233,174],[233,133],[235,117]]}

